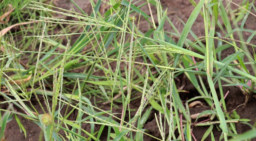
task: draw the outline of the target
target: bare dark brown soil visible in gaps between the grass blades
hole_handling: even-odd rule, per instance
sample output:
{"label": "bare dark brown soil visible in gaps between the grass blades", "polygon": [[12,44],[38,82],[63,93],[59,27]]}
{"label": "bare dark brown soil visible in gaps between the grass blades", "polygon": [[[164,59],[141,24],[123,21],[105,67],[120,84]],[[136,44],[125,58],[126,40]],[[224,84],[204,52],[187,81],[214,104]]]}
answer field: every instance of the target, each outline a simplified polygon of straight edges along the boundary
{"label": "bare dark brown soil visible in gaps between the grass blades", "polygon": [[[84,0],[75,0],[75,2],[81,6],[81,8],[83,10],[85,10],[85,12],[89,13],[91,10],[91,5],[89,1],[84,1]],[[172,20],[172,22],[175,24],[175,26],[178,28],[178,30],[181,32],[183,29],[183,24],[176,18],[179,17],[180,19],[182,19],[184,22],[187,21],[190,13],[193,11],[194,7],[191,5],[191,3],[188,0],[172,0],[172,2],[170,2],[169,0],[161,0],[161,3],[163,5],[163,9],[165,10],[166,8],[168,8],[168,17]],[[69,2],[68,0],[65,0],[65,2],[63,1],[57,1],[57,6],[62,7],[62,8],[66,8],[66,9],[70,9],[70,4],[71,2]],[[71,4],[72,5],[72,4]],[[72,5],[73,7],[75,7],[74,5]],[[104,7],[104,6],[103,6]],[[153,6],[152,6],[153,7]],[[152,8],[151,7],[151,8]],[[108,8],[108,7],[104,7],[104,8]],[[101,9],[102,12],[104,12],[104,8]],[[78,11],[75,8],[76,11]],[[147,5],[145,5],[144,7],[142,7],[142,10],[147,13],[150,14],[150,12],[148,11],[148,7]],[[153,15],[155,17],[157,17],[156,15],[156,8],[152,8],[153,11]],[[252,15],[250,15],[248,17],[248,20],[245,24],[245,29],[251,29],[251,30],[256,30],[255,27],[255,17],[253,17]],[[157,23],[157,21],[155,21]],[[147,27],[147,22],[146,21],[141,21],[140,22],[143,26],[140,27],[140,30],[142,32],[146,32],[148,30]],[[194,33],[200,37],[204,35],[204,29],[202,29],[203,27],[203,18],[199,15],[195,24],[192,27],[192,30],[194,31]],[[165,27],[166,31],[172,31],[171,28],[169,27]],[[248,34],[244,34],[245,39],[247,39],[250,35]],[[74,38],[77,38],[74,37]],[[190,37],[189,37],[190,38]],[[75,39],[73,39],[75,40]],[[253,39],[252,42],[253,44],[256,44],[256,40]],[[230,51],[225,50],[224,51],[224,55],[228,55],[230,54]],[[179,78],[181,78],[180,80],[183,80],[183,82],[180,83],[180,85],[185,84],[184,90],[189,91],[189,93],[180,93],[180,96],[182,98],[182,100],[185,102],[186,100],[193,98],[194,96],[199,96],[199,93],[196,91],[196,89],[194,88],[194,86],[192,86],[188,80],[186,80],[186,78],[184,79],[183,76],[179,76]],[[179,85],[177,85],[177,87],[180,87]],[[218,89],[217,89],[218,90]],[[241,118],[243,119],[250,119],[251,121],[249,122],[250,124],[254,124],[255,123],[255,117],[256,117],[256,100],[255,99],[251,99],[250,101],[248,101],[248,103],[243,107],[243,106],[239,106],[241,104],[243,104],[245,102],[245,96],[242,94],[242,92],[237,88],[237,87],[224,87],[224,93],[229,91],[229,94],[227,96],[226,100],[226,105],[227,105],[227,112],[231,113],[232,110],[236,109],[237,113],[240,115]],[[40,106],[37,104],[37,101],[35,99],[32,99],[32,104],[35,106],[35,108],[37,110],[39,110],[39,113],[43,113],[42,110],[40,110]],[[205,101],[201,101],[202,103],[204,103],[204,105],[206,102]],[[130,104],[130,108],[131,109],[137,109],[139,107],[140,104],[140,99],[134,100],[131,102]],[[110,105],[101,105],[98,104],[98,107],[101,107],[103,110],[109,110],[110,109]],[[114,107],[113,112],[115,113],[121,113],[122,112],[122,105],[118,105],[120,108],[116,108]],[[238,107],[239,106],[239,107]],[[1,108],[7,108],[6,105],[1,105]],[[210,107],[208,106],[196,106],[194,108],[190,108],[190,114],[195,114],[195,113],[199,113],[201,111],[210,109]],[[19,112],[23,112],[20,109],[16,109]],[[158,113],[155,110],[152,110],[152,114],[151,116],[148,118],[148,121],[146,122],[146,124],[144,125],[143,128],[147,129],[147,133],[161,138],[160,136],[160,132],[159,129],[157,127],[156,124],[156,120],[155,120],[155,116],[154,113]],[[135,114],[135,112],[131,112],[131,117],[133,117]],[[77,113],[73,113],[70,117],[70,120],[72,120],[72,118],[75,120]],[[117,114],[117,116],[120,118],[120,114]],[[29,141],[37,141],[39,138],[39,135],[41,133],[41,129],[38,125],[36,125],[35,123],[24,119],[22,117],[19,117],[21,123],[24,125],[25,129],[27,130],[27,138],[25,138],[24,133],[20,133],[19,127],[16,123],[15,120],[12,120],[10,122],[8,122],[7,126],[6,126],[6,132],[5,132],[5,139],[6,141],[24,141],[24,140],[29,140]],[[128,119],[128,117],[126,117],[126,119]],[[199,121],[202,121],[205,119],[199,119]],[[219,140],[219,136],[221,136],[221,132],[218,131],[217,126],[214,126],[213,129],[213,134],[215,136],[215,140]],[[95,127],[95,130],[99,129],[100,126]],[[82,126],[83,129],[90,131],[90,126],[89,125],[83,125]],[[193,130],[193,134],[196,137],[197,140],[201,140],[203,134],[205,133],[205,131],[209,128],[209,126],[193,126],[192,130]],[[250,130],[251,128],[246,125],[246,124],[237,124],[236,125],[236,129],[238,131],[238,134],[241,134],[247,130]],[[104,132],[105,131],[105,132]],[[101,140],[106,140],[107,137],[107,128],[105,127],[103,131],[103,134],[101,136]],[[177,131],[175,131],[177,132]],[[62,134],[63,135],[63,134]],[[156,139],[153,139],[151,137],[145,136],[144,135],[144,140],[145,141],[154,141]],[[194,139],[193,139],[194,140]],[[209,137],[206,140],[211,140]],[[255,141],[256,139],[254,139]]]}

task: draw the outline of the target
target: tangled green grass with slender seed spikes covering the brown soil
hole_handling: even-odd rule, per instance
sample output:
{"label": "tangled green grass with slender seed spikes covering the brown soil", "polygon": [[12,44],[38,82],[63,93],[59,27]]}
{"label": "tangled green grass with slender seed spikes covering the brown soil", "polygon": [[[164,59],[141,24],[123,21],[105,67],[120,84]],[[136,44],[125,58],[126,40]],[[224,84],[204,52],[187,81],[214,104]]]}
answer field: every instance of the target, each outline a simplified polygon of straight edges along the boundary
{"label": "tangled green grass with slender seed spikes covering the brown soil", "polygon": [[[239,87],[245,95],[244,105],[255,96],[256,55],[250,52],[256,46],[250,43],[255,31],[244,29],[248,16],[255,16],[254,1],[244,0],[235,9],[229,0],[190,1],[195,8],[186,23],[177,17],[184,24],[182,32],[160,1],[91,0],[90,15],[71,2],[82,14],[47,1],[1,1],[0,15],[5,16],[0,19],[0,94],[1,104],[8,105],[0,109],[1,139],[6,124],[14,119],[27,137],[20,117],[37,124],[42,129],[39,140],[45,141],[102,140],[103,132],[108,141],[141,141],[145,136],[190,141],[198,139],[193,126],[209,126],[201,140],[208,136],[215,140],[214,126],[222,132],[217,137],[220,140],[256,138],[256,124],[227,112],[228,92],[223,90],[225,86]],[[104,14],[99,12],[102,5],[109,7]],[[147,15],[142,6],[148,6],[150,13],[155,6],[157,17]],[[57,14],[60,16],[55,17]],[[203,37],[192,31],[200,16]],[[140,30],[142,20],[149,25],[145,33]],[[174,32],[165,31],[166,26]],[[19,29],[11,30],[14,27]],[[243,32],[251,36],[245,39]],[[78,38],[72,38],[77,34]],[[222,58],[224,49],[235,53]],[[179,96],[183,90],[174,81],[179,75],[185,75],[200,96],[184,104]],[[206,115],[207,121],[194,125],[190,104],[200,99],[212,108],[196,115],[196,120]],[[138,109],[130,105],[133,101],[140,101]],[[74,112],[77,115],[71,119]],[[150,114],[155,114],[159,137],[143,128]],[[252,129],[238,134],[235,123]]]}

